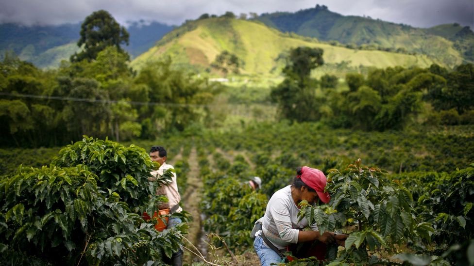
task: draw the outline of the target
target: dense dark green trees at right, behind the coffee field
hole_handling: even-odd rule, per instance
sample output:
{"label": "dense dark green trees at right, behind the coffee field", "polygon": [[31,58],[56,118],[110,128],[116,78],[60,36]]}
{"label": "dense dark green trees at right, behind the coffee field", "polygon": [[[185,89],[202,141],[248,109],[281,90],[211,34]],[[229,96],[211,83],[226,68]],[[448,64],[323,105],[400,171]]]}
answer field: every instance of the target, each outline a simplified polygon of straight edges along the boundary
{"label": "dense dark green trees at right, behind the coffee field", "polygon": [[[316,94],[317,82],[310,70],[320,63],[295,62],[299,54],[291,50],[286,78],[271,90],[280,115],[290,121],[322,121],[332,127],[384,131],[400,130],[408,125],[473,124],[474,64],[462,64],[453,71],[433,64],[430,68],[389,67],[372,69],[367,77],[349,73],[349,91],[329,90],[336,77],[321,78],[322,94]],[[304,50],[303,50],[304,51]],[[304,78],[303,78],[304,77]],[[336,81],[334,81],[336,80]]]}

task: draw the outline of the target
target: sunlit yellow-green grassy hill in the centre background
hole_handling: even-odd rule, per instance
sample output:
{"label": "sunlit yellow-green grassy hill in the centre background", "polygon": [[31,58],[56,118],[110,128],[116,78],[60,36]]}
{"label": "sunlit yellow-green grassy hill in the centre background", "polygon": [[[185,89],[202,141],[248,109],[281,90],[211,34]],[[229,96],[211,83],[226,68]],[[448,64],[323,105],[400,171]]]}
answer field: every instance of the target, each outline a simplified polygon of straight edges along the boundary
{"label": "sunlit yellow-green grassy hill in the centre background", "polygon": [[318,42],[315,38],[282,33],[257,21],[230,18],[208,18],[188,22],[169,32],[147,52],[138,56],[132,66],[139,69],[147,62],[170,57],[175,66],[210,70],[216,56],[227,50],[243,62],[243,74],[279,74],[283,62],[276,59],[291,47],[319,47],[324,50],[328,66],[345,70],[364,67],[427,67],[437,62],[425,55],[408,55],[378,50],[356,50]]}

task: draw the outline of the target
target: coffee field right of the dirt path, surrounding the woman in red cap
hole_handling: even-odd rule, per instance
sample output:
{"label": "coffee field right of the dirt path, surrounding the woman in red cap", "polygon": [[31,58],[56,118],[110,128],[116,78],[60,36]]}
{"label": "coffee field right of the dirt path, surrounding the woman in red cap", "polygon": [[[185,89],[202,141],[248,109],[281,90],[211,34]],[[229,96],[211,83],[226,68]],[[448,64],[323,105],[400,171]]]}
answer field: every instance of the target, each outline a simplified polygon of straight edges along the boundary
{"label": "coffee field right of the dirt path, surrounding the woman in red cap", "polygon": [[[306,206],[302,215],[322,230],[350,234],[344,249],[328,250],[324,263],[472,264],[467,250],[474,249],[474,240],[465,229],[472,227],[474,219],[474,172],[468,163],[474,161],[469,149],[474,141],[463,128],[451,129],[369,134],[325,132],[315,124],[304,124],[279,129],[266,125],[229,133],[226,138],[211,135],[202,141],[209,151],[217,147],[228,155],[238,150],[249,155],[254,169],[240,155],[231,162],[214,152],[214,172],[203,159],[206,230],[223,235],[232,247],[238,246],[237,252],[250,249],[249,233],[264,214],[264,197],[288,185],[297,166],[309,165],[329,177],[332,201],[320,208]],[[371,165],[386,164],[377,153],[402,161],[386,172],[365,167],[360,160],[350,164],[349,157],[355,153],[364,155]],[[464,169],[451,172],[456,167]],[[255,199],[259,193],[244,185],[254,175],[263,180],[262,202]],[[250,198],[253,202],[244,203]],[[319,264],[308,260],[290,264],[299,263]]]}

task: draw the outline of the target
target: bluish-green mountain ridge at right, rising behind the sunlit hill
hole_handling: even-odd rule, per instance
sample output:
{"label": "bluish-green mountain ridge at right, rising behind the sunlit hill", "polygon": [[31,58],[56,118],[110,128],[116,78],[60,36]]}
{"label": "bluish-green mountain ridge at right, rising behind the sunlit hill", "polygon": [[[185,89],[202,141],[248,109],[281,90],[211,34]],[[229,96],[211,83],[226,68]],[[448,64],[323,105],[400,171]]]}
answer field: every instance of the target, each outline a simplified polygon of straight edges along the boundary
{"label": "bluish-green mountain ridge at right, rising behind the sunlit hill", "polygon": [[267,13],[257,19],[280,31],[295,32],[322,41],[421,53],[450,67],[466,60],[473,61],[472,56],[465,54],[466,48],[455,45],[456,40],[446,34],[370,17],[342,16],[329,11],[326,6],[317,5],[295,13]]}

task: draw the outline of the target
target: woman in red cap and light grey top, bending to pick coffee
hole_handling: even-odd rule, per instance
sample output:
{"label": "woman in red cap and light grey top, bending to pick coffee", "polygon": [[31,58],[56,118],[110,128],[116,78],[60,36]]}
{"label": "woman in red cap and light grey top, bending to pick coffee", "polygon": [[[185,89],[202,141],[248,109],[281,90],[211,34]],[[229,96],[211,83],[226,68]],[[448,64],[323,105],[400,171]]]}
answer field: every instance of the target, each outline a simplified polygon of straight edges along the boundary
{"label": "woman in red cap and light grey top, bending to pick coffee", "polygon": [[[254,249],[260,258],[262,266],[270,266],[283,261],[283,252],[287,247],[295,243],[312,244],[315,240],[317,248],[312,252],[325,254],[325,244],[336,242],[344,245],[347,235],[332,232],[320,233],[318,226],[313,224],[310,231],[303,231],[308,226],[308,221],[303,218],[298,221],[298,206],[303,200],[315,206],[322,201],[328,203],[331,197],[324,192],[327,180],[323,172],[307,166],[296,170],[293,185],[289,185],[276,191],[267,204],[264,217],[255,223],[255,227],[262,226],[261,230],[254,234]],[[317,256],[318,257],[318,256]],[[321,256],[318,257],[318,259]]]}

